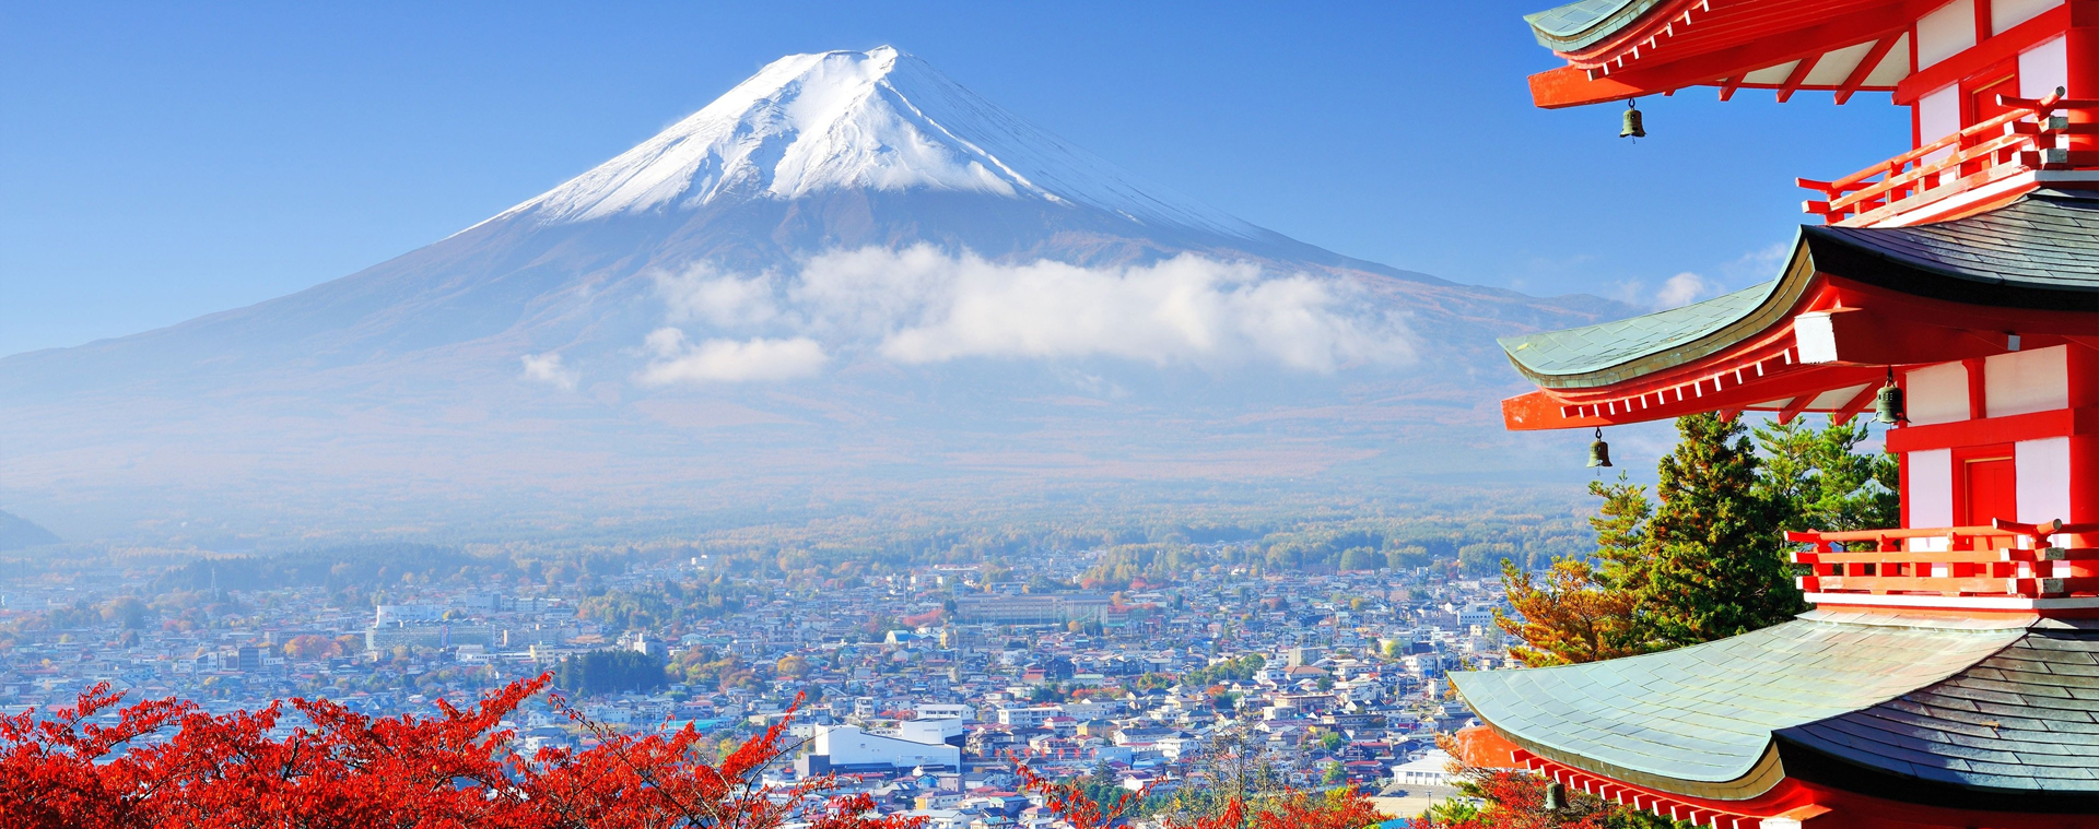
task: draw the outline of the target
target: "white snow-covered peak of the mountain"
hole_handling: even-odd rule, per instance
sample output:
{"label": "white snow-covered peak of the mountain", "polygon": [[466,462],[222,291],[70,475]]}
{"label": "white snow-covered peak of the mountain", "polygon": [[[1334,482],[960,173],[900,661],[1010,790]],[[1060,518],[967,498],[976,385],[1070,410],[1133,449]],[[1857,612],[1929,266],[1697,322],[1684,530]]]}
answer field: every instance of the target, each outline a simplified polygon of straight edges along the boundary
{"label": "white snow-covered peak of the mountain", "polygon": [[691,118],[504,216],[579,222],[838,189],[966,191],[1089,206],[1144,225],[1259,233],[1140,183],[890,46],[772,61]]}

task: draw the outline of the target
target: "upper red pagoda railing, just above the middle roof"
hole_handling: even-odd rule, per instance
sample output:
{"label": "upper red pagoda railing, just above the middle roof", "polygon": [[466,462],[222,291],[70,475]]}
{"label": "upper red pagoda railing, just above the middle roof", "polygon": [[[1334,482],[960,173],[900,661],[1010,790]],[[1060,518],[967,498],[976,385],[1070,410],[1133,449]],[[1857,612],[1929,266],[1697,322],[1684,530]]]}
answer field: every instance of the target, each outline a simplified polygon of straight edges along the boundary
{"label": "upper red pagoda railing, just above the middle roof", "polygon": [[2099,151],[2072,149],[2091,147],[2072,136],[2093,136],[2099,101],[2057,88],[2044,99],[2000,94],[1998,105],[2011,109],[1849,176],[1795,178],[1822,193],[1801,210],[1828,225],[1872,225],[2026,172],[2099,168]]}

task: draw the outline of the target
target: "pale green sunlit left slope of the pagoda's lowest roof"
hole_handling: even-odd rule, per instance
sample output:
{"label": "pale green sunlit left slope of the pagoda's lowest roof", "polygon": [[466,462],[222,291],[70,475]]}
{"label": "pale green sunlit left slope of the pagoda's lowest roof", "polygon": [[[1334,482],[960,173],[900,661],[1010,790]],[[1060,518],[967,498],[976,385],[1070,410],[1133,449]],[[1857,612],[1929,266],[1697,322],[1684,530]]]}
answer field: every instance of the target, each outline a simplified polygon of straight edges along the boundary
{"label": "pale green sunlit left slope of the pagoda's lowest roof", "polygon": [[1931,686],[2023,636],[2023,623],[1912,628],[1809,613],[1644,657],[1450,680],[1482,720],[1541,758],[1662,791],[1746,800],[1784,777],[1774,732]]}

